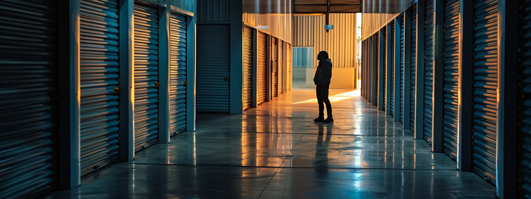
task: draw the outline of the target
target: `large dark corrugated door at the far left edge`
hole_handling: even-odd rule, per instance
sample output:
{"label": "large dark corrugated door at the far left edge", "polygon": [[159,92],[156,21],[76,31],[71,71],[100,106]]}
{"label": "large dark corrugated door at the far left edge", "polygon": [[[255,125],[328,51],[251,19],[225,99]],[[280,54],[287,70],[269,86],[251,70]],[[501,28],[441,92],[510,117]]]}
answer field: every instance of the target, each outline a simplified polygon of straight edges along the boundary
{"label": "large dark corrugated door at the far left edge", "polygon": [[57,179],[57,1],[0,1],[0,198]]}

